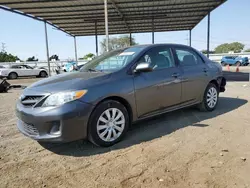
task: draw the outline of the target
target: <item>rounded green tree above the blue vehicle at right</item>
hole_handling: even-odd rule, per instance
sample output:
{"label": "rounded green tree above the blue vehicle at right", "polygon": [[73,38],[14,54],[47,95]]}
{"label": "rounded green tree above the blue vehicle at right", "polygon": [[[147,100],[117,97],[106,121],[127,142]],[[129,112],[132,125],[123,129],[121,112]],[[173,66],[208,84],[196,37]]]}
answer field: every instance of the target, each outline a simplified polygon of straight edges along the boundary
{"label": "rounded green tree above the blue vehicle at right", "polygon": [[239,53],[244,49],[245,45],[239,42],[224,43],[215,48],[215,53],[228,53],[233,51]]}

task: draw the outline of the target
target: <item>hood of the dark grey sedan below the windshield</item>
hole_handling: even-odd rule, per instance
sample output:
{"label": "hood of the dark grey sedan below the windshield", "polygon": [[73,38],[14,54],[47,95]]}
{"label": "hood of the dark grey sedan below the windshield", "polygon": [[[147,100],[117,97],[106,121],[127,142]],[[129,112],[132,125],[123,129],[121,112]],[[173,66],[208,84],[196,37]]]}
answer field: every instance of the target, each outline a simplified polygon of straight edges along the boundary
{"label": "hood of the dark grey sedan below the windshield", "polygon": [[63,73],[40,80],[26,88],[32,91],[56,93],[61,91],[81,90],[106,80],[111,74],[96,72]]}

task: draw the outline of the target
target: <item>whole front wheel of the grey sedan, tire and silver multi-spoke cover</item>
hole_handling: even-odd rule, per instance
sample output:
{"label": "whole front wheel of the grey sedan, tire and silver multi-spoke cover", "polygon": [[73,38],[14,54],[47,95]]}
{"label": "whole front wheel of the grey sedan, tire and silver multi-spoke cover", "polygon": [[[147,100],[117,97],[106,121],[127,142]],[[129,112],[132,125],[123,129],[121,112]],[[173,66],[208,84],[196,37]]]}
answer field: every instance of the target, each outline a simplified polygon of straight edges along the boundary
{"label": "whole front wheel of the grey sedan, tire and silver multi-spoke cover", "polygon": [[124,137],[129,122],[125,106],[118,101],[104,101],[96,107],[90,116],[88,139],[97,146],[112,146]]}

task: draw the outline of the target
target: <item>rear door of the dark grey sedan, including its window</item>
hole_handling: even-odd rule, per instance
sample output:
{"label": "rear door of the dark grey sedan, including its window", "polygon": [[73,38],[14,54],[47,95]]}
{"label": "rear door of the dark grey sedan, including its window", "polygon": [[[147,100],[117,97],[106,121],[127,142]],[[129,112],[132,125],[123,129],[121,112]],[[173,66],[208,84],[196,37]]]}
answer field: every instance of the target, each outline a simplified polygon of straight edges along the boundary
{"label": "rear door of the dark grey sedan, including its window", "polygon": [[208,67],[191,48],[176,47],[175,54],[182,69],[182,102],[196,102],[203,96],[207,86]]}

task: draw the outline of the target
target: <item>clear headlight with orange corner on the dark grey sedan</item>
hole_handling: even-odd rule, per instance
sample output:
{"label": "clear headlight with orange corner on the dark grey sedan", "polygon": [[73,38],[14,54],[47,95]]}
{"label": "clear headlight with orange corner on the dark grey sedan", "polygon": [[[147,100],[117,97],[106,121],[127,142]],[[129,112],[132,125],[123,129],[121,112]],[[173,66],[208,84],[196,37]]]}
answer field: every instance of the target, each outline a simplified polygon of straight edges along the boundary
{"label": "clear headlight with orange corner on the dark grey sedan", "polygon": [[80,99],[87,93],[87,90],[61,92],[50,95],[43,103],[42,107],[60,106],[67,102]]}

